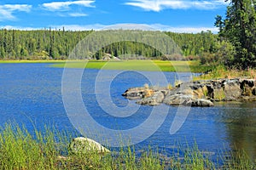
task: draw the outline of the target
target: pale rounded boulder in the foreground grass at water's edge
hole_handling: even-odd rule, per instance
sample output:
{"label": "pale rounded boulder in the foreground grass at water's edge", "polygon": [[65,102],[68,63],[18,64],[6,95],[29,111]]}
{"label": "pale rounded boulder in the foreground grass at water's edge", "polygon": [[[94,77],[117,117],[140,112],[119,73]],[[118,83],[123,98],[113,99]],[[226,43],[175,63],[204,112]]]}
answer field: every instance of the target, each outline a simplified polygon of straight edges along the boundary
{"label": "pale rounded boulder in the foreground grass at water's edge", "polygon": [[69,150],[73,154],[108,153],[110,150],[96,141],[84,137],[75,138],[69,144]]}

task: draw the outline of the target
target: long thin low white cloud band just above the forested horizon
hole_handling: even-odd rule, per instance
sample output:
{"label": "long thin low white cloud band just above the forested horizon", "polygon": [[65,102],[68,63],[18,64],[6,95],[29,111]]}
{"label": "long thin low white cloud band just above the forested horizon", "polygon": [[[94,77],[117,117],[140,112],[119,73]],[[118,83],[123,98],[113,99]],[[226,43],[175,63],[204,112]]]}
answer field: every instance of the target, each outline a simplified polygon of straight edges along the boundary
{"label": "long thin low white cloud band just above the forested horizon", "polygon": [[[36,28],[36,27],[22,27],[22,26],[0,26],[6,29],[15,29],[15,30],[42,30],[44,28]],[[179,32],[179,33],[199,33],[201,31],[212,31],[213,33],[218,32],[218,28],[216,27],[195,27],[195,26],[166,26],[161,24],[119,24],[119,25],[101,25],[101,24],[94,24],[94,25],[61,25],[61,26],[48,26],[47,28],[51,27],[52,29],[61,29],[64,27],[65,30],[68,31],[86,31],[86,30],[109,30],[109,29],[123,29],[123,30],[147,30],[147,31],[172,31],[172,32]]]}

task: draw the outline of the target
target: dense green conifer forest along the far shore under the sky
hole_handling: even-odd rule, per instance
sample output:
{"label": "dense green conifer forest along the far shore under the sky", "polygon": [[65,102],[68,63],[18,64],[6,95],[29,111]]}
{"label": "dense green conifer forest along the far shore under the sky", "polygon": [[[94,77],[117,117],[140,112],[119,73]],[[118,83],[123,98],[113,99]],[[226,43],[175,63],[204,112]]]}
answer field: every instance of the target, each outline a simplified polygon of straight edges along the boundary
{"label": "dense green conifer forest along the far shore under the sky", "polygon": [[[49,28],[37,31],[2,29],[0,30],[0,59],[67,59],[73,49],[77,47],[77,44],[93,32],[95,31],[65,31],[65,28],[62,30]],[[108,34],[108,31],[106,32],[102,31],[101,34]],[[140,35],[134,32],[139,31],[125,31],[125,34],[127,34],[127,37],[134,35],[136,38],[143,37],[142,32],[147,32],[147,35],[154,35],[159,31],[140,31]],[[218,36],[212,34],[211,31],[202,31],[197,34],[164,33],[172,38],[173,42],[170,45],[172,47],[168,47],[167,42],[155,40],[154,36],[150,41],[154,41],[155,46],[166,44],[165,47],[161,47],[164,48],[164,53],[166,54],[148,45],[152,44],[152,42],[147,44],[134,41],[117,41],[100,48],[96,54],[91,53],[88,55],[90,55],[91,59],[102,59],[105,53],[113,54],[113,56],[137,54],[138,57],[145,58],[180,59],[180,54],[183,54],[187,59],[198,59],[203,54],[212,54],[218,39]],[[94,39],[91,39],[91,41],[101,42],[102,37],[109,39],[109,42],[113,39],[113,34],[109,34],[108,37],[101,34],[93,37]],[[151,37],[144,38],[150,39]],[[88,48],[87,51],[93,51],[93,47]],[[181,49],[180,53],[175,51],[177,48]]]}

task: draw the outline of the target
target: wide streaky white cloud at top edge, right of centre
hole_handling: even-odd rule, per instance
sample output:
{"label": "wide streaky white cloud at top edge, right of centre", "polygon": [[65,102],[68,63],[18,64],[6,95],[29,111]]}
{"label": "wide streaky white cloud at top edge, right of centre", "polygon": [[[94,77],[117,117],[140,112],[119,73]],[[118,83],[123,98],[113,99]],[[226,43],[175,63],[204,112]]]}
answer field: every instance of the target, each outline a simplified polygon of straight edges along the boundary
{"label": "wide streaky white cloud at top edge, right of centre", "polygon": [[229,2],[224,0],[131,0],[126,5],[131,5],[138,8],[143,8],[147,11],[159,12],[165,8],[172,9],[187,9],[187,8],[197,8],[197,9],[214,9],[227,5]]}

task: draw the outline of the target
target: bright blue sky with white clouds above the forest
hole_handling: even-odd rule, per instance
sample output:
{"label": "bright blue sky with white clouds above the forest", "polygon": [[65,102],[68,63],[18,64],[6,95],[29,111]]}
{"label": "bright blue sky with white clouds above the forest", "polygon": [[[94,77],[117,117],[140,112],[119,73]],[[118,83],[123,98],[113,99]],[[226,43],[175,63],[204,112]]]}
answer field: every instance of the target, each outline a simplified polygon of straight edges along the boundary
{"label": "bright blue sky with white clouds above the forest", "polygon": [[0,27],[66,30],[143,24],[161,31],[217,31],[214,17],[224,15],[224,0],[2,0]]}

